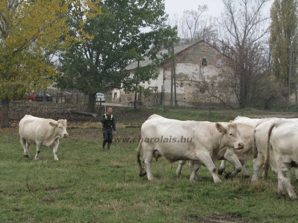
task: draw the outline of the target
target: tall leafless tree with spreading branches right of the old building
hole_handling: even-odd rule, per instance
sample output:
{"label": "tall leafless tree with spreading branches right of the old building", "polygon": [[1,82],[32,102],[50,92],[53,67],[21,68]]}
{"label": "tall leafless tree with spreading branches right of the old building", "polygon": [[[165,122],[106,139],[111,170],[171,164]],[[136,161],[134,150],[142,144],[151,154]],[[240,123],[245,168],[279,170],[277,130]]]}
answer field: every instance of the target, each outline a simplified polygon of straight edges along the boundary
{"label": "tall leafless tree with spreading branches right of the old building", "polygon": [[221,44],[232,60],[234,91],[241,108],[254,107],[261,80],[268,73],[263,48],[269,17],[263,9],[269,0],[222,1]]}

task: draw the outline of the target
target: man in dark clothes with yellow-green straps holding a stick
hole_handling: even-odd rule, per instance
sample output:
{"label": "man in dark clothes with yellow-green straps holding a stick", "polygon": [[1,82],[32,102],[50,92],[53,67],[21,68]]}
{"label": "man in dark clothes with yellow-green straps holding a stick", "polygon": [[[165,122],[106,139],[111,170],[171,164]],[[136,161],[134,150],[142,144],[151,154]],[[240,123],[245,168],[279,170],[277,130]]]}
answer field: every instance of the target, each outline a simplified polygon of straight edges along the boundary
{"label": "man in dark clothes with yellow-green straps holding a stick", "polygon": [[106,143],[108,143],[107,151],[110,151],[110,146],[113,140],[113,130],[114,134],[117,134],[115,118],[112,115],[112,112],[112,108],[108,107],[107,113],[103,114],[103,117],[101,118],[101,123],[103,123],[103,147],[101,148],[102,151],[105,151]]}

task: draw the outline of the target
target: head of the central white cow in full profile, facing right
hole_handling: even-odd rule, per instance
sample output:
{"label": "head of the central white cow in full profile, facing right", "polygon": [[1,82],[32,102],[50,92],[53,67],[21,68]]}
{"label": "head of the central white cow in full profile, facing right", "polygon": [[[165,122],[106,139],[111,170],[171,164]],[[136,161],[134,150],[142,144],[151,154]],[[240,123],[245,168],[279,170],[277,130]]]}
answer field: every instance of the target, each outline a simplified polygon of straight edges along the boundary
{"label": "head of the central white cow in full profile, facing right", "polygon": [[225,126],[221,123],[215,123],[218,132],[222,133],[222,142],[225,146],[228,146],[231,150],[243,149],[244,143],[240,139],[240,131],[237,124],[230,121]]}

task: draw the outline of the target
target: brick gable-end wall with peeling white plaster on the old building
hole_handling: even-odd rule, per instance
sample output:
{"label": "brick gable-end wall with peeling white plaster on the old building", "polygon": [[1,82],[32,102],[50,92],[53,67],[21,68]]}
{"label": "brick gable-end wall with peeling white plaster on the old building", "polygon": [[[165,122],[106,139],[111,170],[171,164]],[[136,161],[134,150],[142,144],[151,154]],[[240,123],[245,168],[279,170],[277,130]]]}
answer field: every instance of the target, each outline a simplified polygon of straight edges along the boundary
{"label": "brick gable-end wall with peeling white plaster on the old building", "polygon": [[[207,60],[207,65],[202,65],[202,59]],[[199,74],[203,73],[209,85],[216,85],[223,80],[223,69],[232,72],[229,58],[205,42],[198,42],[180,52],[175,58],[175,68],[176,99],[178,105],[183,106],[220,103],[214,97],[207,96],[204,88],[200,87],[202,80]],[[171,61],[167,61],[164,63],[164,105],[170,105],[170,93]]]}

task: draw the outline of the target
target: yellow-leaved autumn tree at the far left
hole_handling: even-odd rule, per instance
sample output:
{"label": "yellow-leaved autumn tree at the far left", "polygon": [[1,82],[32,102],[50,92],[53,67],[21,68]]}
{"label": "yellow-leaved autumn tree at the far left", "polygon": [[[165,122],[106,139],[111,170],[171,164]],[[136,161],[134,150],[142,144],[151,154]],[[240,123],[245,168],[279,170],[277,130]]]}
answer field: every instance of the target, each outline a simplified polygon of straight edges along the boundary
{"label": "yellow-leaved autumn tree at the far left", "polygon": [[66,13],[73,0],[0,1],[0,99],[1,128],[10,127],[9,101],[56,75],[44,57],[53,50],[67,27]]}

